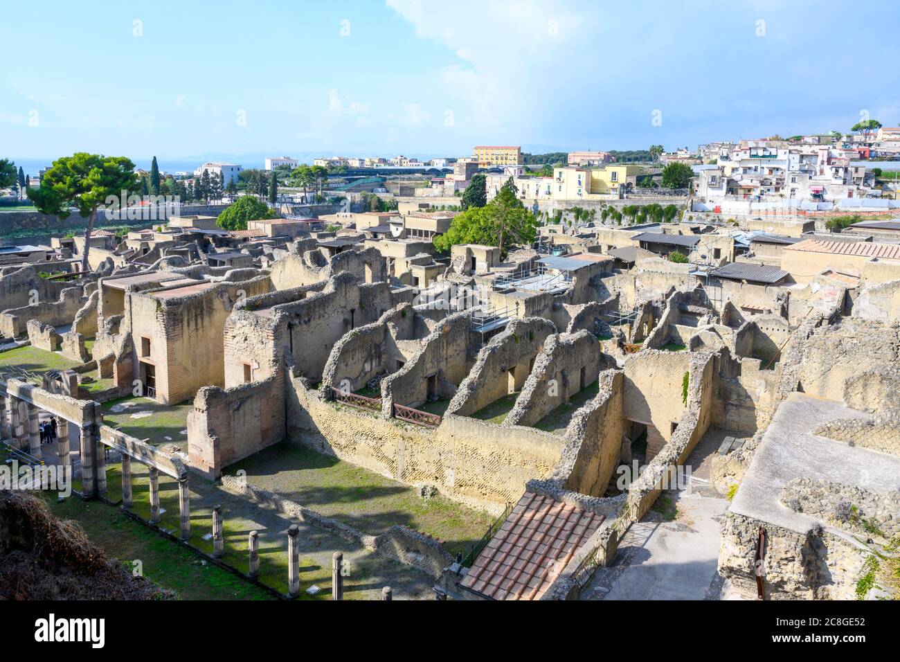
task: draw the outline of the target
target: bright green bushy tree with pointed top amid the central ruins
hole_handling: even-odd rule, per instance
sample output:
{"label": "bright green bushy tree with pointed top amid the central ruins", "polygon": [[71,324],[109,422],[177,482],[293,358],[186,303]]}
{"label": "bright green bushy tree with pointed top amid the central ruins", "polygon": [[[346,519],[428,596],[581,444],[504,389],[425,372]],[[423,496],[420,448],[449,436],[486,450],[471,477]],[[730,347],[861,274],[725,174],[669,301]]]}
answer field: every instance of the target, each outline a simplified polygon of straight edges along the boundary
{"label": "bright green bushy tree with pointed top amid the central ruins", "polygon": [[455,217],[445,234],[437,235],[435,248],[447,251],[456,244],[475,243],[500,248],[505,257],[511,244],[530,246],[537,234],[537,219],[517,197],[512,177],[497,196],[483,207],[470,207]]}

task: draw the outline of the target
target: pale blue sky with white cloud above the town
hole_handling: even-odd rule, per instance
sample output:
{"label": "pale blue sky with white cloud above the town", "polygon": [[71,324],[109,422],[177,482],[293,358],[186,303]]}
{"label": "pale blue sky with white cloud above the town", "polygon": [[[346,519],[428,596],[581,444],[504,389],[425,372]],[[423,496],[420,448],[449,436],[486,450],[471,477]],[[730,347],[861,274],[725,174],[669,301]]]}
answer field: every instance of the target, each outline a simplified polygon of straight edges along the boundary
{"label": "pale blue sky with white cloud above the town", "polygon": [[898,6],[49,0],[0,23],[27,64],[0,72],[0,156],[671,150],[863,111],[896,125]]}

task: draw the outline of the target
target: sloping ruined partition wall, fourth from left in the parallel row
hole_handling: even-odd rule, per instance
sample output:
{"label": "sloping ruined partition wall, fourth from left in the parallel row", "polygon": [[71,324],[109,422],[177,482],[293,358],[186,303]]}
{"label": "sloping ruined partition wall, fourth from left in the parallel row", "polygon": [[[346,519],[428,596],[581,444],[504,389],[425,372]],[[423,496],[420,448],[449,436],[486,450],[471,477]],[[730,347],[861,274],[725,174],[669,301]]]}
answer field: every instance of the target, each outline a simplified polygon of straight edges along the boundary
{"label": "sloping ruined partition wall, fourth from left in the parallel row", "polygon": [[603,352],[588,331],[548,337],[503,425],[534,425],[596,382],[601,367]]}

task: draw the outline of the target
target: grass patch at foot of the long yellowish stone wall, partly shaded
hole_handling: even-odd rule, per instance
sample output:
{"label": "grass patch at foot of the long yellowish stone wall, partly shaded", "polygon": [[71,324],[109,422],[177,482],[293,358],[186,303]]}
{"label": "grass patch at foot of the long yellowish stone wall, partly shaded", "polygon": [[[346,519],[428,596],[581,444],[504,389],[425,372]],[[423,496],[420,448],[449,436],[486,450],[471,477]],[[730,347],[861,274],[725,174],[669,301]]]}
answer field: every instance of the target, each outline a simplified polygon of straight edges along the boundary
{"label": "grass patch at foot of the long yellowish stone wall, partly shaded", "polygon": [[437,495],[423,499],[409,485],[330,455],[282,441],[225,470],[243,469],[247,482],[320,512],[364,533],[378,535],[402,524],[463,553],[494,518]]}

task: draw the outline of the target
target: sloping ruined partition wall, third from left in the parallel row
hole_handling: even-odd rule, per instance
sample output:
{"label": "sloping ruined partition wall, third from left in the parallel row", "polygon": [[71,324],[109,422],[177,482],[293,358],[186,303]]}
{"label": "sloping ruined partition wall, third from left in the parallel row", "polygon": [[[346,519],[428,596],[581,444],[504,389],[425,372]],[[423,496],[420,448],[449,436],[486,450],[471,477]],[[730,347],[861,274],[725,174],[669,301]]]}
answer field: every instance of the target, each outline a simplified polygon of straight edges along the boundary
{"label": "sloping ruined partition wall, third from left in the parallel row", "polygon": [[552,323],[537,317],[510,322],[478,353],[447,412],[469,416],[521,389],[554,331]]}

